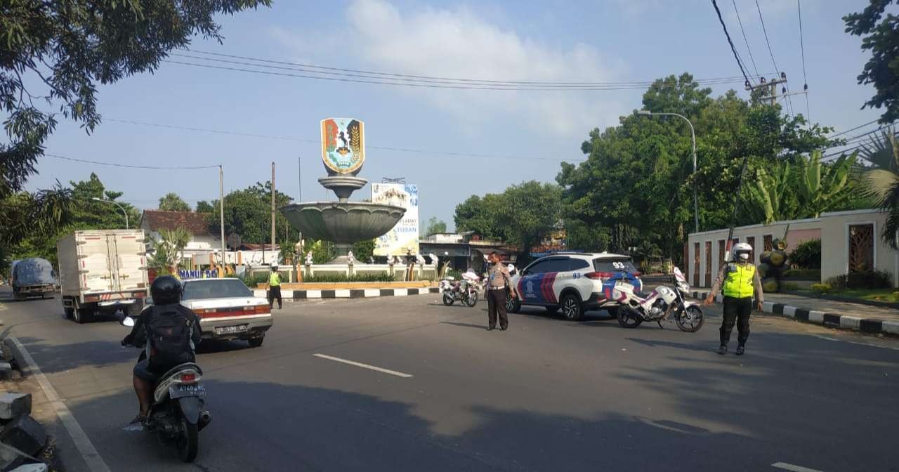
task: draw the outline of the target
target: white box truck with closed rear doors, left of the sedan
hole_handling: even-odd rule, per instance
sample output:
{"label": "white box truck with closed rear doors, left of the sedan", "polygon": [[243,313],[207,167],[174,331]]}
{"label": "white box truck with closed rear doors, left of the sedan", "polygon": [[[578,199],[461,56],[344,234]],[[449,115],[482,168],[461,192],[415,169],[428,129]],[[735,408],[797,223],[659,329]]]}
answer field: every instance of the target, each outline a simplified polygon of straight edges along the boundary
{"label": "white box truck with closed rear doors, left of the sedan", "polygon": [[138,314],[147,298],[147,247],[142,229],[76,231],[57,242],[59,292],[76,323],[97,313]]}

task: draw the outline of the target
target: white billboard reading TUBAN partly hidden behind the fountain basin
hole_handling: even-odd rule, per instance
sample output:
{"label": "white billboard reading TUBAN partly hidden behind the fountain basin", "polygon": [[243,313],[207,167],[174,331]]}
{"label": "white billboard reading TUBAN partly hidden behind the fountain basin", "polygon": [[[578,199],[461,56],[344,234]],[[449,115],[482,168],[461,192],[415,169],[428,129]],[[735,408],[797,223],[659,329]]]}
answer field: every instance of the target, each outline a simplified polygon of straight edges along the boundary
{"label": "white billboard reading TUBAN partly hidden behind the fountain basin", "polygon": [[396,226],[378,237],[375,255],[418,254],[418,186],[414,183],[372,183],[371,201],[405,208]]}

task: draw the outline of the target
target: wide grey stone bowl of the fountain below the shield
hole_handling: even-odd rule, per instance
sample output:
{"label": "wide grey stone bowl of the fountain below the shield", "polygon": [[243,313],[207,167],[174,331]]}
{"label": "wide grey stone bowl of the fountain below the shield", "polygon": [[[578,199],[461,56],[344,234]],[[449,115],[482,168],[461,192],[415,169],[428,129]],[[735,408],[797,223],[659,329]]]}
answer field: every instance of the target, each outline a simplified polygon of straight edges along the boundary
{"label": "wide grey stone bowl of the fountain below the shield", "polygon": [[313,201],[293,203],[280,212],[304,237],[352,245],[387,233],[405,209],[367,201]]}

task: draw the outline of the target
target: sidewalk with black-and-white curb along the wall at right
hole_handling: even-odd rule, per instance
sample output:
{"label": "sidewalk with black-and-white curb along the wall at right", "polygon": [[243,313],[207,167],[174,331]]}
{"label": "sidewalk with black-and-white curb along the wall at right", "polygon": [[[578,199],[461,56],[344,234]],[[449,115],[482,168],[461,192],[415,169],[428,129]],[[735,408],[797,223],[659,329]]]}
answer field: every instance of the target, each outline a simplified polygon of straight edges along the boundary
{"label": "sidewalk with black-and-white curb along the wall at right", "polygon": [[[705,299],[708,291],[694,291],[693,298]],[[723,297],[718,295],[717,302]],[[860,331],[869,334],[899,335],[899,310],[859,303],[766,293],[763,313],[787,316],[798,321]]]}

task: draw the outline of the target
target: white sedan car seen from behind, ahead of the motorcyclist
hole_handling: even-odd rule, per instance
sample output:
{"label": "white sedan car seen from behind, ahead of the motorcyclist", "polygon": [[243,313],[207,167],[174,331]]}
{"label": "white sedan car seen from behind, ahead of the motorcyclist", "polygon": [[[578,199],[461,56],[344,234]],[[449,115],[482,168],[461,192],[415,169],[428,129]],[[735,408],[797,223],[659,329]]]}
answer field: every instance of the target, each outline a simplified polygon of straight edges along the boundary
{"label": "white sedan car seen from behind, ahead of the motorcyclist", "polygon": [[200,317],[204,339],[239,339],[252,347],[263,345],[271,328],[269,302],[254,297],[239,279],[182,281],[181,304]]}

